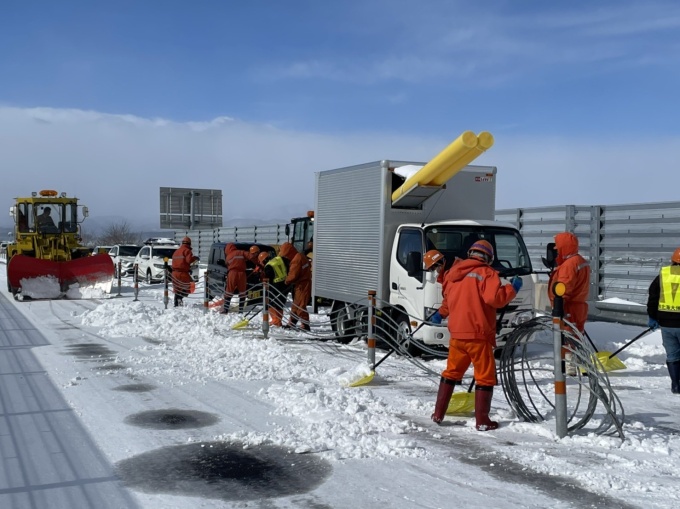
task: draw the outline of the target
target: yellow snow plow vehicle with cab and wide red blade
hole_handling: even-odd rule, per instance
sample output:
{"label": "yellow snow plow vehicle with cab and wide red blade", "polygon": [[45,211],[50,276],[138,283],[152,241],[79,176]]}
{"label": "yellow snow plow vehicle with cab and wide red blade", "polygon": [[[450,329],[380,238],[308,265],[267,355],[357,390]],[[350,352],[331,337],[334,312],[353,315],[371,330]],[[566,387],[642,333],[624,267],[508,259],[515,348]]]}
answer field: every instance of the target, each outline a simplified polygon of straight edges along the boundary
{"label": "yellow snow plow vehicle with cab and wide red blade", "polygon": [[[81,208],[84,220],[88,211]],[[7,245],[7,290],[15,297],[30,286],[29,281],[40,277],[55,278],[62,293],[76,283],[110,287],[113,262],[109,255],[89,256],[90,249],[81,244],[78,198],[53,190],[33,192],[30,198],[16,198],[10,216],[14,239]]]}

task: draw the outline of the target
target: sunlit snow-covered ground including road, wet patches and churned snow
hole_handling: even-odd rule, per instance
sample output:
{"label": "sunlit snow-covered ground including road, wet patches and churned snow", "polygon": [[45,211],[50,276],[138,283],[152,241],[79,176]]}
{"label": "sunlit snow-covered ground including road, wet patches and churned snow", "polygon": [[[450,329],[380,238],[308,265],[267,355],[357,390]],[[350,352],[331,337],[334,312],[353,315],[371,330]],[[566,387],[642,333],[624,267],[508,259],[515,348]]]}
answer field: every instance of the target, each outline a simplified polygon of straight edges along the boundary
{"label": "sunlit snow-covered ground including road, wet patches and churned snow", "polygon": [[[551,412],[545,422],[520,422],[500,390],[492,404],[499,430],[477,432],[472,416],[436,426],[437,377],[396,356],[371,384],[346,387],[366,369],[363,342],[264,339],[259,316],[232,330],[238,315],[204,313],[198,298],[166,310],[160,285],[143,286],[137,302],[123,290],[12,302],[46,336],[50,344],[34,354],[140,507],[680,504],[680,396],[670,392],[658,332],[618,356],[628,369],[609,374],[625,439],[560,440]],[[587,330],[614,351],[642,329]],[[208,460],[197,452],[206,450],[214,451]],[[196,462],[210,463],[198,480],[187,466]]]}

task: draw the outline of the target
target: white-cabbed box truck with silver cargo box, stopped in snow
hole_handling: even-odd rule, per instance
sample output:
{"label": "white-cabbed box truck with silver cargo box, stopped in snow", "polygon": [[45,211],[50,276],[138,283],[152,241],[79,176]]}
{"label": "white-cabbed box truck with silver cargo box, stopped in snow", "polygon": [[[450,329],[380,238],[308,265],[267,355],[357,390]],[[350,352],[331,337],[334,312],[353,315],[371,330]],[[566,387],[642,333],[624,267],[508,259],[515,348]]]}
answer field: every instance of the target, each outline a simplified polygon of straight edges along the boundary
{"label": "white-cabbed box truck with silver cargo box, stopped in snow", "polygon": [[412,179],[402,170],[425,164],[382,160],[316,173],[313,302],[331,302],[339,337],[352,335],[365,321],[361,315],[374,290],[381,316],[396,324],[392,340],[402,348],[416,353],[418,342],[448,345],[445,323],[418,328],[442,302],[441,285],[423,270],[423,255],[437,249],[448,267],[455,257],[465,258],[478,239],[494,246],[493,267],[502,277],[524,280],[503,313],[503,327],[533,316],[532,267],[524,241],[513,225],[493,221],[496,168],[465,166],[445,184],[403,190]]}

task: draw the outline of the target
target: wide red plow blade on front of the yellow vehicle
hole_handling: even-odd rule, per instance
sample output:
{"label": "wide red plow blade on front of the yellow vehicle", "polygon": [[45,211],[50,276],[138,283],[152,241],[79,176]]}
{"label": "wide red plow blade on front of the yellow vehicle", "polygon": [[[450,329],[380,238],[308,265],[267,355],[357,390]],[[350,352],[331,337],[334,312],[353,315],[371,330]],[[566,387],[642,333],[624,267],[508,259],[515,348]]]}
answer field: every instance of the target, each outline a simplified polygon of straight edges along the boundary
{"label": "wide red plow blade on front of the yellow vehicle", "polygon": [[[22,279],[52,276],[59,281],[62,292],[77,283],[81,288],[101,287],[110,291],[113,281],[113,262],[108,254],[76,258],[65,262],[41,260],[25,255],[15,255],[7,266],[7,279],[12,293],[21,288]],[[103,285],[103,286],[102,286]]]}

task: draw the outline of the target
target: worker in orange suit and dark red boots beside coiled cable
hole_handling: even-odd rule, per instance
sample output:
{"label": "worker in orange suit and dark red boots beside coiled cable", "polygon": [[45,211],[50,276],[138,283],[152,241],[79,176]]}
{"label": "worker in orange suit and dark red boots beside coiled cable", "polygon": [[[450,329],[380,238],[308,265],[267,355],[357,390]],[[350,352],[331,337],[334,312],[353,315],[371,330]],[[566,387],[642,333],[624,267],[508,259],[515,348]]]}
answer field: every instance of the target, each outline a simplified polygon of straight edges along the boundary
{"label": "worker in orange suit and dark red boots beside coiled cable", "polygon": [[[466,260],[454,263],[446,273],[444,300],[433,320],[440,323],[448,317],[450,334],[449,356],[442,372],[432,420],[444,420],[453,388],[460,385],[463,375],[474,367],[475,420],[479,431],[496,429],[498,423],[489,419],[493,388],[496,385],[496,310],[505,307],[522,287],[515,277],[504,285],[491,268],[493,246],[486,240],[475,242]],[[440,314],[440,317],[436,317]],[[437,322],[436,320],[439,320]]]}

